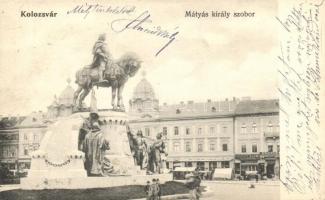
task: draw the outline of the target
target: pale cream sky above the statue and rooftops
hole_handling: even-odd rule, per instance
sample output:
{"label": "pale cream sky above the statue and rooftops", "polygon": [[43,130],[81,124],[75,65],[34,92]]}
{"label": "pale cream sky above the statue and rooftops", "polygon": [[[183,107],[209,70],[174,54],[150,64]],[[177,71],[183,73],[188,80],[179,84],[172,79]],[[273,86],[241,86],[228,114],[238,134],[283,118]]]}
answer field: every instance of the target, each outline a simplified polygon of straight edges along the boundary
{"label": "pale cream sky above the statue and rooftops", "polygon": [[[67,15],[68,10],[83,5],[82,1],[4,1],[0,12],[0,115],[46,111],[54,95],[59,96],[67,86],[68,78],[76,89],[75,72],[91,63],[91,49],[100,33],[107,34],[114,58],[131,51],[143,61],[140,72],[125,86],[125,105],[142,79],[142,71],[160,103],[277,98],[276,1],[190,2],[99,1],[106,7],[135,6],[135,10],[129,15],[90,13],[84,18],[82,14]],[[58,16],[20,17],[22,10],[54,11]],[[158,56],[166,38],[130,29],[117,33],[111,28],[114,20],[135,19],[145,11],[151,20],[146,26],[179,32]],[[186,11],[206,11],[210,17],[185,17]],[[255,12],[255,17],[213,18],[211,11]],[[96,90],[96,95],[99,108],[110,108],[108,89]]]}

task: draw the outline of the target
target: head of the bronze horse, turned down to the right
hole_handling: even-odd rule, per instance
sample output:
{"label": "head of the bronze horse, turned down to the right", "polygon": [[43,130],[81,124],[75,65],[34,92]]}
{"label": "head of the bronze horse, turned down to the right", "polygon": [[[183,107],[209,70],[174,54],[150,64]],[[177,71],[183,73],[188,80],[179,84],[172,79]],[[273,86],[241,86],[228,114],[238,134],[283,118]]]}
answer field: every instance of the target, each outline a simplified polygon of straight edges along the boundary
{"label": "head of the bronze horse, turned down to the right", "polygon": [[128,76],[133,77],[141,68],[141,62],[135,53],[126,53],[117,63]]}

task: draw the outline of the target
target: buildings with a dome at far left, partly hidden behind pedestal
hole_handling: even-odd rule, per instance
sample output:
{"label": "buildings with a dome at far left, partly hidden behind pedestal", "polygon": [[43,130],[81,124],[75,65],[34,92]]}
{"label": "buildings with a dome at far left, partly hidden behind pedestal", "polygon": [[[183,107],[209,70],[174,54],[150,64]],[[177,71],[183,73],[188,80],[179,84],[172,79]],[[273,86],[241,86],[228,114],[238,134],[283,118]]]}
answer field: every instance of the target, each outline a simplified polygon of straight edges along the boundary
{"label": "buildings with a dome at far left, partly hidden behind pedestal", "polygon": [[0,164],[13,173],[30,168],[30,154],[37,150],[47,127],[60,117],[72,114],[74,90],[68,80],[59,98],[48,107],[48,112],[33,112],[25,117],[0,119]]}

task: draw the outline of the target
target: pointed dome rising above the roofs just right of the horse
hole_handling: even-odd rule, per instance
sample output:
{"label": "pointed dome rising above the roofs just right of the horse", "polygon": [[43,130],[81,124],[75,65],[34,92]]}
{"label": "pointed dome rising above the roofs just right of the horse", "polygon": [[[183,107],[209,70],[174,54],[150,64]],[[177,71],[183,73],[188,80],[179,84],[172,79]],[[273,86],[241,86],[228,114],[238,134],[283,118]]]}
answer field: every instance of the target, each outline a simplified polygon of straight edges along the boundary
{"label": "pointed dome rising above the roofs just right of the horse", "polygon": [[138,83],[133,92],[133,99],[142,100],[153,100],[155,99],[155,92],[152,85],[145,78],[145,73],[143,72],[143,79]]}

